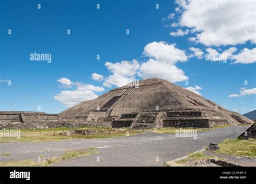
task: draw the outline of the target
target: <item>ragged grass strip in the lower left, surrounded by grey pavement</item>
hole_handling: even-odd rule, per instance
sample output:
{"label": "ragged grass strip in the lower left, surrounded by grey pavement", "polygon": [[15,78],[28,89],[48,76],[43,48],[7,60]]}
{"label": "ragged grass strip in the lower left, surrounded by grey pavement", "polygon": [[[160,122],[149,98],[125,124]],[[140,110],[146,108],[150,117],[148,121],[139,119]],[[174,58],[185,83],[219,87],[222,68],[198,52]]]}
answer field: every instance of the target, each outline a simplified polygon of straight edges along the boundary
{"label": "ragged grass strip in the lower left, surrounded by grey pavement", "polygon": [[[87,157],[89,155],[99,153],[98,148],[87,148],[86,150],[69,151],[62,154],[62,157],[42,159],[41,161],[35,160],[18,160],[18,161],[6,161],[0,162],[1,167],[5,166],[18,166],[18,167],[30,167],[30,166],[51,166],[55,162],[59,162],[66,159]],[[43,158],[43,155],[42,155]]]}

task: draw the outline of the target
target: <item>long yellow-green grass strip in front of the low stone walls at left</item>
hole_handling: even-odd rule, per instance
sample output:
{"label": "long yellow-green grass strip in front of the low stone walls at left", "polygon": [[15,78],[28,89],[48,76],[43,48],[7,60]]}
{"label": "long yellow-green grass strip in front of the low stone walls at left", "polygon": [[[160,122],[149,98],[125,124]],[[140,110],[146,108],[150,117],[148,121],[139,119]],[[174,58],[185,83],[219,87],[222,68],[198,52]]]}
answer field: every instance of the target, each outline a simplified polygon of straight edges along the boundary
{"label": "long yellow-green grass strip in front of the low stone walls at left", "polygon": [[[58,141],[63,139],[93,139],[93,138],[109,138],[109,137],[126,136],[126,129],[111,129],[111,128],[109,129],[107,128],[76,128],[76,129],[83,129],[83,130],[99,130],[99,132],[95,134],[90,135],[89,133],[89,137],[87,137],[87,135],[62,136],[59,134],[63,131],[69,131],[74,129],[56,128],[56,129],[42,129],[42,130],[21,130],[20,139],[17,139],[16,137],[0,137],[0,143],[21,142],[21,141],[42,142],[42,141]],[[143,130],[130,130],[129,135],[132,136],[142,132]]]}

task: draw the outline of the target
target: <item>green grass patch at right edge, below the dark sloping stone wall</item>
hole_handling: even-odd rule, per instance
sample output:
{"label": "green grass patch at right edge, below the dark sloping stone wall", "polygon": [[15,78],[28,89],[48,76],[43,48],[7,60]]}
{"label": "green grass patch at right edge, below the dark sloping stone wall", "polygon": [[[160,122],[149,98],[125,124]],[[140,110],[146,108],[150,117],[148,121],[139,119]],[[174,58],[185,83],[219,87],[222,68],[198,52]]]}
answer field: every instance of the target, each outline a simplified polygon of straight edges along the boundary
{"label": "green grass patch at right edge, below the dark sloping stone wall", "polygon": [[256,158],[255,139],[226,139],[218,145],[220,149],[216,153]]}

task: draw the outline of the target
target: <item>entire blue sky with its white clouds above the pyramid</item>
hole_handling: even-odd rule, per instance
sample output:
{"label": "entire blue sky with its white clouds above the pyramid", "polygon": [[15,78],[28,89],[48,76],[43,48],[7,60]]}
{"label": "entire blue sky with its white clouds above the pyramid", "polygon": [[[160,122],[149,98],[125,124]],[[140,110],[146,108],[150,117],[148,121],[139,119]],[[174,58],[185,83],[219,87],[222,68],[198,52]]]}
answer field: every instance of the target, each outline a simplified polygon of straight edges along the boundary
{"label": "entire blue sky with its white clouds above the pyramid", "polygon": [[150,77],[255,109],[254,1],[1,1],[0,12],[0,110],[58,113]]}

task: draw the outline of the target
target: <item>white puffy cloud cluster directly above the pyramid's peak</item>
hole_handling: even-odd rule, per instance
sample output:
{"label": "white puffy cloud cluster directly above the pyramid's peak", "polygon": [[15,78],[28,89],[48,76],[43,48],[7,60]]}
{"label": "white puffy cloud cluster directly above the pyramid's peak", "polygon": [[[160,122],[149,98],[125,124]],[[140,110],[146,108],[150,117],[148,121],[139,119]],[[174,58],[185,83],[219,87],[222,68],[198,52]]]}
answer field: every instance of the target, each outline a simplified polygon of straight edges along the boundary
{"label": "white puffy cloud cluster directly above the pyramid's peak", "polygon": [[140,63],[137,60],[106,62],[105,66],[112,74],[106,77],[103,85],[122,87],[135,80],[136,76],[143,79],[159,77],[170,82],[188,79],[184,71],[174,65],[187,60],[185,51],[176,48],[174,44],[154,41],[144,47],[143,55],[148,56],[149,60]]}

